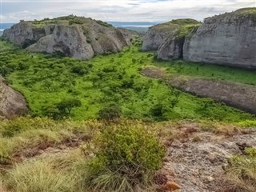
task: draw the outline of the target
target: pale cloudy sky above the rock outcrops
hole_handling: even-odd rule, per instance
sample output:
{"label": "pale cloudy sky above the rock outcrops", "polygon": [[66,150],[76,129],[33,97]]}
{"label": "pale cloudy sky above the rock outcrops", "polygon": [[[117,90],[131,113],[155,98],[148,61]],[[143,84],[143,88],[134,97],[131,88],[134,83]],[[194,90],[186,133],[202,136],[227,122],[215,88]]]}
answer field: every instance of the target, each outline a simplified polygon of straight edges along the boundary
{"label": "pale cloudy sky above the rock outcrops", "polygon": [[256,0],[0,1],[2,23],[69,14],[117,22],[166,22],[174,18],[202,21],[214,14],[256,7]]}

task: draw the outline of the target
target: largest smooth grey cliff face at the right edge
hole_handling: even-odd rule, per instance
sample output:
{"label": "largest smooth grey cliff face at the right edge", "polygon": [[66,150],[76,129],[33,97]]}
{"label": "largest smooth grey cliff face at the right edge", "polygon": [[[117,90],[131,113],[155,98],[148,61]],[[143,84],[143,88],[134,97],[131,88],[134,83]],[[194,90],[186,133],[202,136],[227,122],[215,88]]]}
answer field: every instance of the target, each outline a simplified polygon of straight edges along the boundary
{"label": "largest smooth grey cliff face at the right edge", "polygon": [[230,66],[256,67],[256,8],[206,18],[186,38],[183,58]]}

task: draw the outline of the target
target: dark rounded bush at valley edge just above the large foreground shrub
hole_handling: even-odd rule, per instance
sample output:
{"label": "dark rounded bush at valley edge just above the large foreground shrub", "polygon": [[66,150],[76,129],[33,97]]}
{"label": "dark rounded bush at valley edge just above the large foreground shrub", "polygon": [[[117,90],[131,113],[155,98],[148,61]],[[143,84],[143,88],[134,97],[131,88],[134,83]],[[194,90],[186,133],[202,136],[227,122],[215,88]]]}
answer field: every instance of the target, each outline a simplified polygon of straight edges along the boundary
{"label": "dark rounded bush at valley edge just above the large foreground shrub", "polygon": [[110,103],[98,111],[98,118],[107,121],[113,121],[117,118],[121,118],[122,109],[116,103]]}

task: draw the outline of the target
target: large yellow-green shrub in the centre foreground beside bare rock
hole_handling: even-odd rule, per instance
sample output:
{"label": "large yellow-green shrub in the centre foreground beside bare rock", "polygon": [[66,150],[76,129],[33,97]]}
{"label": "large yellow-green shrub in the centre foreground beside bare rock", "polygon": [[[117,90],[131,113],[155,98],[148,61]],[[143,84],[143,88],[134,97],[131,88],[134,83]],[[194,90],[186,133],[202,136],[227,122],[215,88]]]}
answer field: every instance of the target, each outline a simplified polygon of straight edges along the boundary
{"label": "large yellow-green shrub in the centre foreground beside bare rock", "polygon": [[95,138],[94,149],[85,182],[99,191],[129,192],[149,185],[166,154],[165,147],[142,125],[106,127]]}

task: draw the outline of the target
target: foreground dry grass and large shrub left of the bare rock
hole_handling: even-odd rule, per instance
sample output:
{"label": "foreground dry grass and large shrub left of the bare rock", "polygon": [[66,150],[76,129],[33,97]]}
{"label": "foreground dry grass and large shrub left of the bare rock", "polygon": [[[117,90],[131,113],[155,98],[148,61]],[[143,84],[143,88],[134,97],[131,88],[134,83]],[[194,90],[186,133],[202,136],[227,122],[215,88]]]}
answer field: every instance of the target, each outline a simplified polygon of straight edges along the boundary
{"label": "foreground dry grass and large shrub left of the bare rock", "polygon": [[[147,187],[166,154],[153,127],[123,120],[108,125],[47,118],[3,120],[0,182],[13,192]],[[12,134],[4,134],[7,130]]]}

